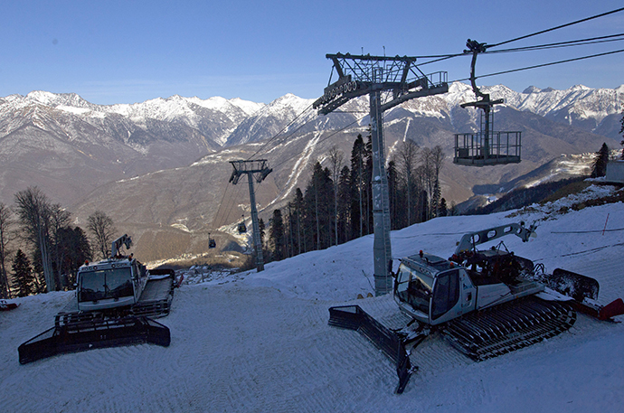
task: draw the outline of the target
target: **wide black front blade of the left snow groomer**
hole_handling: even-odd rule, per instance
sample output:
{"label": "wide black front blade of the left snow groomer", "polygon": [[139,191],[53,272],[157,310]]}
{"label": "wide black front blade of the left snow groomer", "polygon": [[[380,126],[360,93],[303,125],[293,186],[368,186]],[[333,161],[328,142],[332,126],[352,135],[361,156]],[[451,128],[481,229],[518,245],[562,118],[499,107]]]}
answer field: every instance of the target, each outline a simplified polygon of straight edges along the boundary
{"label": "wide black front blade of the left snow groomer", "polygon": [[17,352],[20,364],[26,364],[61,353],[142,343],[167,347],[169,329],[147,317],[57,325],[21,344]]}

